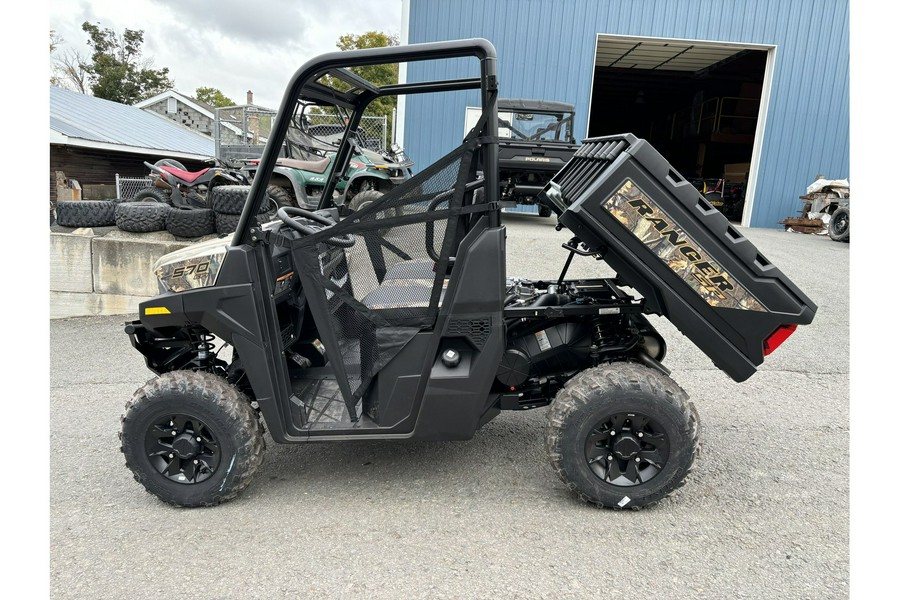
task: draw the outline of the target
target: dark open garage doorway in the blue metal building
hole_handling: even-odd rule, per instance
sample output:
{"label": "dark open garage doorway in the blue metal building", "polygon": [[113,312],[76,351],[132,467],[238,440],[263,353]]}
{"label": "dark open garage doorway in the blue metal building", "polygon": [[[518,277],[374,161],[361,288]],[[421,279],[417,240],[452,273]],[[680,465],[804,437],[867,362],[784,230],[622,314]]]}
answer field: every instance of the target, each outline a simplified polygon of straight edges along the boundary
{"label": "dark open garage doorway in the blue metal building", "polygon": [[598,36],[588,137],[648,140],[729,220],[746,224],[773,51]]}

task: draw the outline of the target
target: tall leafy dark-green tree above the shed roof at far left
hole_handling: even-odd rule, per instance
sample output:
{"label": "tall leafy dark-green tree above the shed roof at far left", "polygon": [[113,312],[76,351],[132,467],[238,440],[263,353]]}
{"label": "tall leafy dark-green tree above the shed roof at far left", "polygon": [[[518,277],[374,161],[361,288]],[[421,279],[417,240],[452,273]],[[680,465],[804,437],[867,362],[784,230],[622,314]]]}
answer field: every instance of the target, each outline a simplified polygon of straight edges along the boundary
{"label": "tall leafy dark-green tree above the shed roof at far left", "polygon": [[125,29],[118,34],[87,21],[81,29],[88,34],[92,51],[84,68],[94,96],[134,104],[174,86],[167,67],[154,69],[153,61],[142,57],[143,31]]}

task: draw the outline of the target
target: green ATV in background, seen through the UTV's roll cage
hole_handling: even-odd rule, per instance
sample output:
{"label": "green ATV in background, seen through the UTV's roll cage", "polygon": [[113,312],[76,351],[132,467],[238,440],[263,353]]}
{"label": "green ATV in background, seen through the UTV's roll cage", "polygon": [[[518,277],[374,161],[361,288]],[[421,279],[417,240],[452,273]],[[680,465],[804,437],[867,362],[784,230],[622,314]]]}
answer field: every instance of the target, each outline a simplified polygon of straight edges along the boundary
{"label": "green ATV in background, seen through the UTV's roll cage", "polygon": [[[413,162],[396,144],[377,152],[366,147],[359,129],[348,132],[338,127],[335,132],[334,126],[329,126],[328,135],[323,135],[321,126],[310,126],[306,109],[312,106],[307,105],[291,119],[283,147],[286,156],[278,159],[269,180],[269,195],[279,206],[317,208],[334,165],[338,149],[335,142],[339,145],[345,135],[353,146],[353,155],[331,192],[338,206],[359,210],[412,176]],[[258,167],[258,159],[250,160],[243,171],[252,180]]]}

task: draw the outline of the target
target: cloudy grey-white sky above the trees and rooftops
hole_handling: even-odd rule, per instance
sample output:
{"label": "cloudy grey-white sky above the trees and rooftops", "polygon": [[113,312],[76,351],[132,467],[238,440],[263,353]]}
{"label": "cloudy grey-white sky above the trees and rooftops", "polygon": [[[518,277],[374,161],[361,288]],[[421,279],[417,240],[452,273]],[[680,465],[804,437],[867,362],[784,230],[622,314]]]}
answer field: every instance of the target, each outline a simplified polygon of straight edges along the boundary
{"label": "cloudy grey-white sky above the trees and rooftops", "polygon": [[175,89],[219,88],[242,104],[277,108],[306,60],[336,50],[346,33],[400,35],[401,0],[49,0],[49,29],[61,50],[88,55],[85,21],[121,33],[144,31],[143,53],[168,67]]}

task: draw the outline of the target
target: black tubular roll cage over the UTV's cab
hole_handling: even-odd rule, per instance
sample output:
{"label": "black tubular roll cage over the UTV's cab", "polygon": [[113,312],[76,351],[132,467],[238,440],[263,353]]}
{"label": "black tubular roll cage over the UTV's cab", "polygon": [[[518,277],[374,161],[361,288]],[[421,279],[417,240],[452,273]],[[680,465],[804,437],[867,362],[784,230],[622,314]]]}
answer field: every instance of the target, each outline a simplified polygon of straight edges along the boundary
{"label": "black tubular roll cage over the UTV's cab", "polygon": [[[481,76],[478,79],[459,79],[447,81],[431,81],[424,83],[404,83],[377,87],[373,84],[360,86],[365,91],[360,94],[350,92],[338,92],[316,81],[329,71],[346,67],[365,65],[377,65],[394,62],[416,62],[436,60],[443,58],[474,57],[481,63]],[[342,74],[345,72],[342,72]],[[351,74],[351,77],[357,76]],[[366,82],[368,84],[368,82]],[[481,89],[482,114],[487,115],[485,129],[487,138],[482,147],[484,159],[485,202],[497,202],[498,198],[498,147],[497,147],[497,51],[493,44],[483,38],[468,40],[454,40],[448,42],[431,42],[427,44],[410,44],[408,46],[389,46],[386,48],[369,48],[365,50],[347,50],[344,52],[330,52],[307,61],[294,73],[290,84],[281,100],[281,107],[275,117],[272,133],[266,147],[263,149],[259,161],[256,176],[250,186],[247,202],[235,229],[233,246],[240,246],[250,241],[250,223],[252,216],[259,212],[265,197],[266,186],[275,169],[275,161],[281,151],[287,130],[294,113],[294,107],[298,100],[309,99],[332,103],[338,106],[352,108],[353,113],[350,123],[345,128],[344,137],[341,140],[335,166],[346,162],[351,152],[351,144],[347,143],[351,131],[355,131],[362,111],[373,99],[386,95],[431,93],[440,91],[456,91],[464,89]],[[333,180],[336,171],[333,170],[330,181],[326,186],[334,189]],[[324,197],[324,194],[323,194]],[[491,225],[499,225],[497,211],[490,211]]]}

